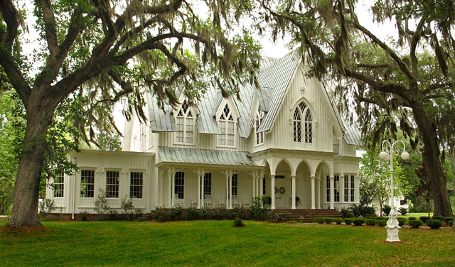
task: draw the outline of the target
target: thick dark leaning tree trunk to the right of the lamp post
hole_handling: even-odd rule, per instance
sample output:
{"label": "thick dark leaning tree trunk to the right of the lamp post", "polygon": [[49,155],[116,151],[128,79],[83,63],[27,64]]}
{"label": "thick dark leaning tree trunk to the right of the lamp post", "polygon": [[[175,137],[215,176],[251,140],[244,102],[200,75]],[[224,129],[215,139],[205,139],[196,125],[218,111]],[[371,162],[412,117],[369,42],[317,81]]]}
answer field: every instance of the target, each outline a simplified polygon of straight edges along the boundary
{"label": "thick dark leaning tree trunk to the right of the lamp post", "polygon": [[[415,97],[418,99],[418,96]],[[439,160],[439,146],[437,144],[437,133],[434,124],[429,122],[422,103],[418,100],[412,107],[414,119],[422,136],[424,151],[422,163],[430,180],[433,194],[434,215],[449,217],[452,216],[452,209],[447,194],[446,175]]]}

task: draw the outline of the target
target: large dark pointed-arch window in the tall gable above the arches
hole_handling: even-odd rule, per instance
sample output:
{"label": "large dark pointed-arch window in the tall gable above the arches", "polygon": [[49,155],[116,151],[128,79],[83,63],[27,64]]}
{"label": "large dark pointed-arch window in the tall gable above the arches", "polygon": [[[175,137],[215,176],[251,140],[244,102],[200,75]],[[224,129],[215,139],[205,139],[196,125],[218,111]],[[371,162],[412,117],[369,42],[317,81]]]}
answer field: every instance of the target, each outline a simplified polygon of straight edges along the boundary
{"label": "large dark pointed-arch window in the tall gable above the arches", "polygon": [[304,140],[305,143],[313,143],[313,119],[311,111],[304,102],[301,102],[294,111],[292,128],[294,131],[294,142],[301,143]]}

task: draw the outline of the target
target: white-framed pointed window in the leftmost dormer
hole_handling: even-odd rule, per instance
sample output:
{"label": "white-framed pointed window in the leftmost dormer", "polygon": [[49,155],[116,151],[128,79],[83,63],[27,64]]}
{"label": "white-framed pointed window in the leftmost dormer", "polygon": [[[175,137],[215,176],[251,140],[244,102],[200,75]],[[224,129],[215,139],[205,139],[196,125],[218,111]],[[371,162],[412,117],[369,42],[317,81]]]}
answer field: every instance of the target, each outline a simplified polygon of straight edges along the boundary
{"label": "white-framed pointed window in the leftmost dormer", "polygon": [[[188,102],[186,101],[186,99],[183,100],[181,107],[178,108],[178,111],[175,114],[176,114],[175,119],[176,119],[176,126],[177,126],[175,143],[181,144],[181,145],[194,145],[194,139],[196,137],[195,131],[194,131],[195,124],[196,124],[195,112],[188,105]],[[179,125],[180,125],[179,119],[181,119],[183,122],[181,129],[179,129]],[[192,126],[192,129],[188,129],[189,128],[188,126]],[[182,133],[182,137],[181,137],[182,141],[178,141],[179,132]],[[191,134],[191,141],[187,141],[190,134]]]}

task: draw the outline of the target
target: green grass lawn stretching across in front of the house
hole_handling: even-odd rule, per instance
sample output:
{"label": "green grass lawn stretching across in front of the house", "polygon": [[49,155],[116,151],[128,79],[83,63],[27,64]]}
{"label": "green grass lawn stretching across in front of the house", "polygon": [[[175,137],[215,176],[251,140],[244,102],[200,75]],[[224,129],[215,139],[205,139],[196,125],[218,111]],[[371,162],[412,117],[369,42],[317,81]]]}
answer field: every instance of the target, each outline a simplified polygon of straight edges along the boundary
{"label": "green grass lawn stretching across in front of the house", "polygon": [[[5,222],[0,222],[4,225]],[[335,224],[43,222],[0,230],[1,266],[451,266],[455,231]]]}

